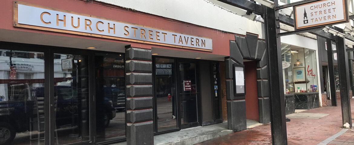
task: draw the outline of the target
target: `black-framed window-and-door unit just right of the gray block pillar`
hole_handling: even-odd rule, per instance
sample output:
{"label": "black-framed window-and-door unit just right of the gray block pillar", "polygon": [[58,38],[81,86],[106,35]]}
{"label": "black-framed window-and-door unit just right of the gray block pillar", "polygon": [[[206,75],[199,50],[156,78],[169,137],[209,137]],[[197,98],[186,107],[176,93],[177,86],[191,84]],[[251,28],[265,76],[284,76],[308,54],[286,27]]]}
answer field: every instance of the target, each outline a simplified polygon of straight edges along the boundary
{"label": "black-framed window-and-door unit just right of the gray block pillar", "polygon": [[200,126],[200,91],[195,60],[154,57],[155,133]]}

